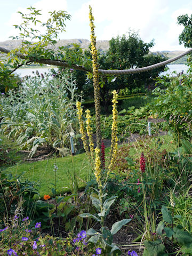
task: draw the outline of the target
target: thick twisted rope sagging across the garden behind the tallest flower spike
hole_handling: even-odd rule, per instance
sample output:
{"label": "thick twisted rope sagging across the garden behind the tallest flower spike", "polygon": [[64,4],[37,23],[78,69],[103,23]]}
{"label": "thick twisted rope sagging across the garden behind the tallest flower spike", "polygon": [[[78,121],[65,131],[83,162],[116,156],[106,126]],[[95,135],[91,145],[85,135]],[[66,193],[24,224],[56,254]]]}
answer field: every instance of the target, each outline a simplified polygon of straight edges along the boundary
{"label": "thick twisted rope sagging across the garden behind the tallest flower spike", "polygon": [[[159,63],[156,63],[154,65],[151,66],[147,66],[147,67],[143,67],[143,68],[135,68],[135,69],[123,69],[123,70],[106,70],[106,69],[99,69],[99,73],[103,74],[103,75],[126,75],[126,74],[135,74],[135,73],[141,73],[141,72],[145,72],[145,71],[149,71],[155,68],[159,68],[159,67],[163,67],[166,66],[167,64],[178,60],[180,58],[182,58],[183,56],[189,54],[192,51],[192,48],[189,49],[186,52],[183,52],[181,54],[179,54],[178,56],[171,58],[169,60],[165,60]],[[0,52],[4,52],[4,53],[9,53],[10,50],[5,49],[4,47],[0,46]],[[60,67],[66,67],[66,68],[74,68],[77,70],[82,70],[82,71],[88,71],[91,72],[91,70],[85,68],[84,66],[78,66],[75,64],[69,65],[67,62],[62,61],[62,60],[49,60],[49,59],[41,59],[41,60],[36,60],[34,58],[27,58],[27,56],[22,55],[17,53],[17,56],[21,59],[29,59],[30,61],[35,61],[38,63],[43,63],[43,64],[49,64],[49,65],[53,65],[53,66],[60,66]]]}

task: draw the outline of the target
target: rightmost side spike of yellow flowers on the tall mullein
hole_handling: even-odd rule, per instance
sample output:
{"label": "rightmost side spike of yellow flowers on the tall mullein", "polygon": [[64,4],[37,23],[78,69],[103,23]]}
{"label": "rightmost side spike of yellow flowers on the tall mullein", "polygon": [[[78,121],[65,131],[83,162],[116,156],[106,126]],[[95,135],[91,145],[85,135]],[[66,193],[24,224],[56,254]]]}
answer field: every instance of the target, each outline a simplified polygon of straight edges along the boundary
{"label": "rightmost side spike of yellow flowers on the tall mullein", "polygon": [[113,123],[112,123],[112,126],[111,126],[111,149],[110,149],[110,153],[111,153],[111,161],[110,161],[110,164],[109,164],[109,167],[108,167],[108,172],[107,172],[107,175],[109,175],[110,171],[111,171],[111,167],[114,165],[115,163],[115,159],[116,159],[116,156],[117,156],[117,141],[118,141],[118,138],[117,138],[117,115],[118,115],[118,112],[117,112],[117,98],[118,98],[118,94],[116,92],[116,90],[114,90],[113,92],[113,110],[112,110],[112,113],[113,113]]}

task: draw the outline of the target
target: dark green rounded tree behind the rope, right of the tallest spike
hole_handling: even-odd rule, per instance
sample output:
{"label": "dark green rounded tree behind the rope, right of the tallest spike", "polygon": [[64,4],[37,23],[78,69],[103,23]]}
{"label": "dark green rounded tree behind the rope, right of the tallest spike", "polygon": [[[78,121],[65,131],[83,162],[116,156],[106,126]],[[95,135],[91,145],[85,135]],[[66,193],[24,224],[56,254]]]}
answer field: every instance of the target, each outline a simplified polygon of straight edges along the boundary
{"label": "dark green rounded tree behind the rope, right of the tallest spike", "polygon": [[[100,56],[99,66],[101,69],[130,69],[150,66],[166,60],[160,54],[152,54],[149,49],[154,41],[144,43],[137,32],[129,31],[128,35],[117,36],[109,41],[109,50]],[[119,90],[128,87],[130,90],[135,87],[148,85],[156,78],[164,67],[148,72],[117,76],[114,82],[108,82],[103,78],[105,85],[101,88],[101,97],[106,111],[110,101],[110,90]]]}

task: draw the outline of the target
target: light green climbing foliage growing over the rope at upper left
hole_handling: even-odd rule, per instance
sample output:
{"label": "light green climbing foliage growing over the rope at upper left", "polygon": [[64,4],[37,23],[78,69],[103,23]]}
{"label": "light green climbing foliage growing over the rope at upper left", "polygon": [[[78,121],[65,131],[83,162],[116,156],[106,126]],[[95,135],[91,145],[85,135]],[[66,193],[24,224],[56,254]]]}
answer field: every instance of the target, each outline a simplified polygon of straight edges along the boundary
{"label": "light green climbing foliage growing over the rope at upper left", "polygon": [[[83,65],[84,54],[79,45],[74,44],[72,48],[68,46],[61,46],[58,50],[53,50],[58,34],[66,31],[66,20],[70,20],[70,14],[66,11],[50,11],[50,17],[46,22],[42,22],[41,11],[34,7],[27,9],[27,14],[19,12],[22,17],[20,25],[14,25],[19,29],[19,36],[12,37],[12,39],[20,39],[21,46],[7,53],[6,58],[0,58],[0,83],[4,84],[5,91],[9,91],[13,86],[17,86],[14,82],[14,77],[10,77],[12,71],[21,66],[30,65],[35,61],[41,59],[46,60],[63,60],[68,62],[70,66],[72,63]],[[36,29],[36,25],[41,25],[44,34]],[[41,63],[41,62],[40,62]],[[87,59],[89,69],[90,61]]]}

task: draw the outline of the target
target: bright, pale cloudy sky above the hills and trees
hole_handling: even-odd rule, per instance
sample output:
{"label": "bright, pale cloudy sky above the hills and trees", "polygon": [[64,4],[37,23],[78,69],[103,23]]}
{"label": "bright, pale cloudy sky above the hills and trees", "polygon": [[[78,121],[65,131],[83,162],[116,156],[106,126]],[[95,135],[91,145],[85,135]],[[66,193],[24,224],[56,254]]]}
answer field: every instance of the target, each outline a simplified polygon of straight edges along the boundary
{"label": "bright, pale cloudy sky above the hills and trees", "polygon": [[59,35],[60,39],[90,40],[89,5],[97,40],[110,40],[132,29],[138,31],[146,43],[154,39],[151,51],[186,50],[179,45],[183,26],[177,24],[177,17],[192,14],[191,0],[0,0],[0,42],[19,34],[19,30],[13,27],[22,21],[17,12],[26,13],[30,6],[42,10],[43,21],[53,10],[65,10],[71,15],[70,21],[66,21],[66,32]]}

